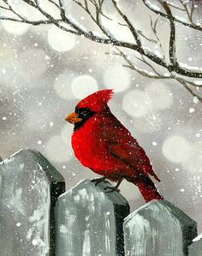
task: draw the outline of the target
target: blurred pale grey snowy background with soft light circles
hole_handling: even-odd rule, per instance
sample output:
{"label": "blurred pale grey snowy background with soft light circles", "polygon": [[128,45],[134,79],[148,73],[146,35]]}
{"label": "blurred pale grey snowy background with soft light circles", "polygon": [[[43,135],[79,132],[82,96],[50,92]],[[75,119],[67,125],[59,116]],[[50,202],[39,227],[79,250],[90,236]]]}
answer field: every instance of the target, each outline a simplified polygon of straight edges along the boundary
{"label": "blurred pale grey snowy background with soft light circles", "polygon": [[[136,27],[150,35],[150,12],[140,1],[132,2],[124,5],[125,12],[133,11]],[[49,9],[56,14],[54,6]],[[85,23],[80,9],[70,6],[68,11]],[[116,18],[112,9],[108,15]],[[105,22],[117,38],[124,35],[130,40],[124,27]],[[157,27],[166,46],[168,28],[163,20]],[[176,45],[181,63],[201,67],[202,33],[179,29]],[[202,231],[202,104],[197,98],[175,80],[151,80],[122,67],[122,57],[105,54],[111,46],[53,26],[1,21],[0,33],[2,158],[21,148],[38,150],[62,173],[67,188],[96,176],[74,158],[70,146],[73,126],[64,117],[89,93],[114,88],[110,109],[145,148],[162,181],[157,188],[196,220]],[[145,204],[133,184],[122,182],[121,191],[132,211]]]}

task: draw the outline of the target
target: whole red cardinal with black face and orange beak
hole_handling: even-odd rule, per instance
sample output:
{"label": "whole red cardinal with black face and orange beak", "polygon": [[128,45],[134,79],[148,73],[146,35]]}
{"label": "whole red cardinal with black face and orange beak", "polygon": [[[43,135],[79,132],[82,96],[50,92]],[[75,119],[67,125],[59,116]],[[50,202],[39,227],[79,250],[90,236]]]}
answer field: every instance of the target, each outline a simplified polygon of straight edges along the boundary
{"label": "whole red cardinal with black face and orange beak", "polygon": [[97,183],[107,178],[117,182],[117,189],[126,179],[138,186],[146,202],[163,199],[151,181],[153,176],[160,182],[146,152],[110,111],[108,102],[112,94],[112,90],[94,92],[66,117],[74,123],[74,154],[81,164],[103,176]]}

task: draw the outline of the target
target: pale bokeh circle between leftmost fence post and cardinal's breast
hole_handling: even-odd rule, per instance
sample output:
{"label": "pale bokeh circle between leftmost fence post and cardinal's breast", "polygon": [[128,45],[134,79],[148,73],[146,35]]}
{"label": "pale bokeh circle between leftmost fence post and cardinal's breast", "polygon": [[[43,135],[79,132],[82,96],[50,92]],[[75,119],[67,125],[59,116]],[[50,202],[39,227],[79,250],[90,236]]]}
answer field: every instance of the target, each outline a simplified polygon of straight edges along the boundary
{"label": "pale bokeh circle between leftmost fence post and cardinal's breast", "polygon": [[45,153],[50,160],[56,163],[67,162],[73,156],[71,148],[62,140],[60,135],[51,137],[47,141]]}

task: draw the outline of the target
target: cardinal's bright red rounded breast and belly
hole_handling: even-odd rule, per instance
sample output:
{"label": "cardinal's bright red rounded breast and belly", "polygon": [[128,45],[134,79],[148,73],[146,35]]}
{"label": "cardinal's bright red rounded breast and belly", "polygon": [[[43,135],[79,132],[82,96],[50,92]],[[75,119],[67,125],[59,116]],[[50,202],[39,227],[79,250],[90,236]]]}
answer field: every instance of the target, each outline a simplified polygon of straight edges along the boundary
{"label": "cardinal's bright red rounded breast and belly", "polygon": [[108,116],[95,114],[74,132],[72,146],[81,164],[100,175],[106,175],[107,172],[108,176],[118,176],[119,171],[126,169],[126,164],[111,156],[109,152],[102,134],[102,126],[107,126],[108,122]]}

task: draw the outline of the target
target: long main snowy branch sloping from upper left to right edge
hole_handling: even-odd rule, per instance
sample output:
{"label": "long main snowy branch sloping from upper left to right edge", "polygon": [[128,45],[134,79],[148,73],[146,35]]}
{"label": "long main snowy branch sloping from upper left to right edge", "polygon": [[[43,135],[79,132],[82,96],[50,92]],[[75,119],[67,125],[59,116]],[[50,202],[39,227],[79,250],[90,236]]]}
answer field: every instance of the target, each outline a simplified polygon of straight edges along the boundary
{"label": "long main snowy branch sloping from upper left to right edge", "polygon": [[[47,20],[49,21],[49,23],[56,25],[56,27],[61,28],[62,30],[68,32],[68,33],[74,33],[77,35],[82,35],[84,36],[86,39],[91,39],[92,41],[95,41],[97,43],[102,43],[102,44],[108,44],[108,45],[115,45],[115,46],[121,46],[124,48],[128,48],[128,49],[132,49],[134,51],[139,52],[141,55],[144,55],[145,57],[147,57],[148,59],[150,59],[153,63],[156,63],[160,66],[162,66],[163,68],[166,68],[169,72],[175,72],[176,74],[181,74],[184,76],[188,76],[188,77],[194,77],[194,78],[202,78],[202,73],[199,71],[195,71],[192,68],[183,68],[181,66],[178,65],[173,65],[173,63],[166,63],[165,60],[163,60],[163,57],[158,57],[155,53],[153,53],[152,51],[149,51],[148,49],[146,49],[146,47],[140,45],[140,38],[137,37],[137,44],[134,43],[128,43],[126,41],[120,41],[118,39],[115,39],[112,34],[103,26],[103,24],[100,21],[100,9],[102,8],[102,5],[104,3],[104,1],[99,1],[99,3],[101,5],[98,6],[99,3],[97,3],[94,0],[91,0],[91,2],[95,5],[96,7],[96,19],[92,17],[92,21],[97,21],[98,27],[102,30],[102,32],[104,33],[104,35],[106,35],[108,37],[108,39],[100,37],[98,35],[96,35],[95,33],[92,33],[92,31],[86,31],[83,28],[81,28],[76,22],[74,22],[73,20],[70,19],[70,17],[67,17],[66,15],[64,15],[64,10],[63,7],[61,7],[61,15],[62,15],[62,21],[64,21],[65,23],[67,23],[69,25],[69,27],[72,27],[72,29],[68,29],[67,27],[63,27],[60,23],[58,23],[51,15],[49,15],[47,12],[45,12],[45,10],[41,9],[39,7],[39,4],[36,4],[35,2],[31,1],[31,0],[23,0],[25,3],[28,3],[29,5],[31,5],[33,8],[39,10],[39,12],[42,15],[45,15],[45,17],[47,18]],[[115,1],[115,0],[111,0],[111,1]],[[79,1],[75,1],[79,3]],[[118,7],[117,7],[118,8]],[[118,8],[119,9],[119,8]],[[123,14],[123,12],[120,10],[119,14],[122,16],[122,18],[125,18],[125,15]],[[1,19],[1,17],[0,17]],[[126,20],[128,22],[128,26],[130,23],[130,21]],[[36,24],[35,24],[36,25]],[[132,24],[131,24],[132,26]],[[134,35],[136,36],[135,33],[135,28],[133,29],[134,31]]]}

